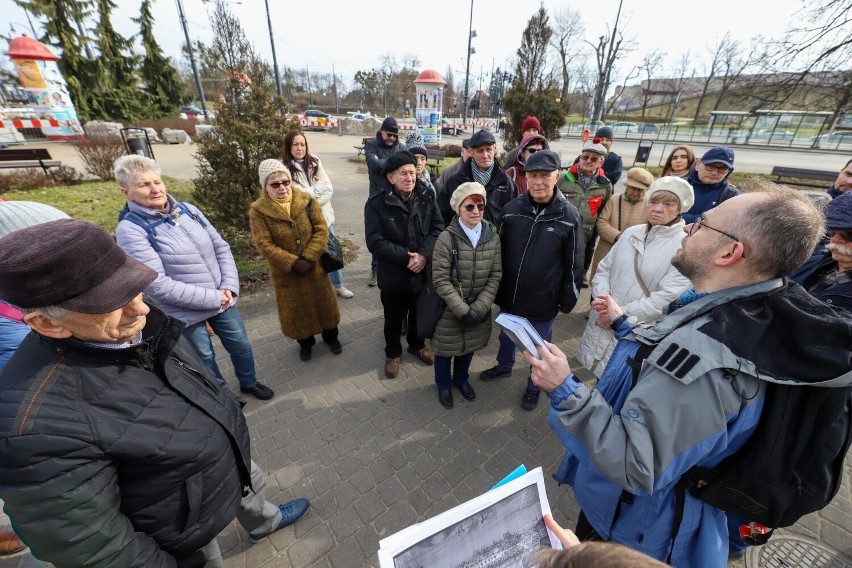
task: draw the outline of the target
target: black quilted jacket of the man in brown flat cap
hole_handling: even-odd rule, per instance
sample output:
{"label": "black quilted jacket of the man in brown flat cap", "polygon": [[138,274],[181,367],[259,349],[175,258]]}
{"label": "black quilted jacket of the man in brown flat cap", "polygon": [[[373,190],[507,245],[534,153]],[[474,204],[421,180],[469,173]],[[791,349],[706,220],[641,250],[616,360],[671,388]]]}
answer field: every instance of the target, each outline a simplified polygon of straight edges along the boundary
{"label": "black quilted jacket of the man in brown flat cap", "polygon": [[127,349],[31,333],[0,374],[0,496],[38,558],[181,566],[233,520],[248,430],[182,330],[151,308]]}

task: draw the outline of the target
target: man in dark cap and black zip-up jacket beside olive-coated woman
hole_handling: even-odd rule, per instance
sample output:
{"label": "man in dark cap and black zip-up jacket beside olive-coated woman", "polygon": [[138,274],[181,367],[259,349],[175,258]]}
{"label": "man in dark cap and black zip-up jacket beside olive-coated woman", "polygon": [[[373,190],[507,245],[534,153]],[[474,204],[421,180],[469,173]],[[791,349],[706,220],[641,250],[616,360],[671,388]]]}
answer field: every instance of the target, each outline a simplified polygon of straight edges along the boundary
{"label": "man in dark cap and black zip-up jacket beside olive-coated woman", "polygon": [[[503,209],[500,240],[503,280],[497,304],[504,313],[523,316],[538,334],[550,341],[553,321],[577,303],[583,279],[583,227],[577,208],[555,190],[559,155],[541,150],[527,159],[527,193]],[[492,381],[511,374],[515,344],[500,333],[497,365],[479,378]],[[540,391],[527,379],[521,408],[532,410]]]}

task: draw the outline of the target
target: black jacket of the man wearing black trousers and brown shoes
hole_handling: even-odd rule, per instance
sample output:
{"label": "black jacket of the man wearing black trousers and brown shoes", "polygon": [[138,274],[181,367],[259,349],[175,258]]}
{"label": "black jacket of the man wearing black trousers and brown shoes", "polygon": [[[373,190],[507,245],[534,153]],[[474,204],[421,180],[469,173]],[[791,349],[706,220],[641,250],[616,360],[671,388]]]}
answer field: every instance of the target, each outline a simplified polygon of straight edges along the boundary
{"label": "black jacket of the man wearing black trousers and brown shoes", "polygon": [[384,181],[384,191],[367,200],[364,233],[367,248],[379,263],[378,284],[388,292],[417,293],[426,271],[408,269],[409,252],[417,252],[431,264],[432,249],[444,230],[435,194],[417,180],[408,203]]}

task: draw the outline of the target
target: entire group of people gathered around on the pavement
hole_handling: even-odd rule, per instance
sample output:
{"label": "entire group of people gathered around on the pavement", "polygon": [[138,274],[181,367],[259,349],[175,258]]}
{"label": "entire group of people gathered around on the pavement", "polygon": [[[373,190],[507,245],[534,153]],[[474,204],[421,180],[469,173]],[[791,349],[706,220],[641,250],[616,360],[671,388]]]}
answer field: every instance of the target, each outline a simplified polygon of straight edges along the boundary
{"label": "entire group of people gathered around on the pavement", "polygon": [[[548,343],[537,358],[524,354],[521,406],[536,408],[542,391],[549,399],[566,449],[556,477],[580,503],[580,540],[722,566],[737,549],[737,519],[678,494],[685,472],[748,442],[768,382],[836,389],[841,402],[852,393],[843,309],[852,161],[821,212],[772,184],[738,195],[728,181],[734,152],[723,146],[701,158],[678,146],[667,175],[631,168],[613,197],[610,176],[622,167],[608,159],[611,131],[596,132],[567,169],[543,136],[525,132],[508,172],[480,131],[434,185],[420,141],[406,148],[398,136],[388,118],[367,148],[365,237],[385,375],[398,375],[405,335],[407,350],[434,366],[443,407],[454,386],[474,400],[470,366],[490,340],[493,305],[527,318]],[[282,333],[309,361],[316,335],[342,352],[337,297],[351,292],[321,262],[331,182],[304,134],[285,140],[281,159],[259,165],[247,214]],[[115,240],[59,212],[0,238],[0,318],[35,332],[18,335],[0,375],[0,488],[20,536],[58,565],[221,566],[215,537],[234,517],[256,542],[309,503],[266,499],[241,401],[215,361],[211,330],[241,394],[274,396],[256,376],[230,247],[200,210],[168,194],[153,160],[122,157],[115,177],[127,199]],[[578,302],[598,236],[577,352],[599,377],[590,388],[551,341],[557,314]],[[416,308],[430,284],[446,305],[431,349]],[[819,344],[809,336],[817,326]],[[512,372],[515,345],[502,332],[499,343],[482,380]]]}

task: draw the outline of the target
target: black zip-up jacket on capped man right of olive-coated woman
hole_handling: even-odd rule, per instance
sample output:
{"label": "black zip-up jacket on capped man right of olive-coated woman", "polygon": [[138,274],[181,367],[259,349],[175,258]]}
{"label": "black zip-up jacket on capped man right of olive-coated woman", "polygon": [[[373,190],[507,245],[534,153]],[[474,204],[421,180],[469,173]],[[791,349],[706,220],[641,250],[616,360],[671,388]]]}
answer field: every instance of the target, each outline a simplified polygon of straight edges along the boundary
{"label": "black zip-up jacket on capped man right of olive-coated woman", "polygon": [[583,222],[561,192],[547,205],[529,193],[503,210],[503,280],[497,304],[504,312],[545,321],[568,313],[583,281]]}

